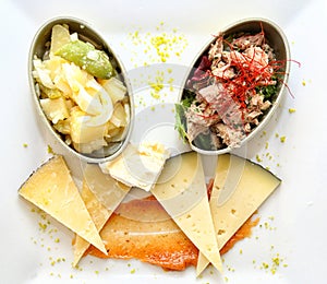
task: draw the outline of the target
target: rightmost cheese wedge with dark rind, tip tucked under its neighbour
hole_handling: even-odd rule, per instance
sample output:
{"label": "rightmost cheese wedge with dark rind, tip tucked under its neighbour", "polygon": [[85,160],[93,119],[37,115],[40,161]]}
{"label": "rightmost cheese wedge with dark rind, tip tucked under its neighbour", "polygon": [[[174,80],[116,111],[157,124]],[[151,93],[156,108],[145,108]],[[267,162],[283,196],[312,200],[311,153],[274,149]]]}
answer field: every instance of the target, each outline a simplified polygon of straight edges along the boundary
{"label": "rightmost cheese wedge with dark rind, tip tucked under its neighbour", "polygon": [[[262,166],[230,154],[219,155],[216,167],[210,209],[219,249],[278,188],[281,180]],[[209,261],[199,255],[199,275]]]}

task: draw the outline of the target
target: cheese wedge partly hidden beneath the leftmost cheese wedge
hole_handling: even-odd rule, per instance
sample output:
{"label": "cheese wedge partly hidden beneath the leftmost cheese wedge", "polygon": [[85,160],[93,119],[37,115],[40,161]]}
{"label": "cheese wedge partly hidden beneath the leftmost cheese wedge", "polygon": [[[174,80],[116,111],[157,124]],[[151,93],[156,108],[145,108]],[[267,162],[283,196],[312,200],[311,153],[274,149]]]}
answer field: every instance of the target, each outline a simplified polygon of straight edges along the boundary
{"label": "cheese wedge partly hidden beneath the leftmost cheese wedge", "polygon": [[[98,232],[129,191],[129,187],[105,175],[98,165],[86,165],[81,196]],[[77,265],[88,247],[89,242],[76,235],[73,267]]]}

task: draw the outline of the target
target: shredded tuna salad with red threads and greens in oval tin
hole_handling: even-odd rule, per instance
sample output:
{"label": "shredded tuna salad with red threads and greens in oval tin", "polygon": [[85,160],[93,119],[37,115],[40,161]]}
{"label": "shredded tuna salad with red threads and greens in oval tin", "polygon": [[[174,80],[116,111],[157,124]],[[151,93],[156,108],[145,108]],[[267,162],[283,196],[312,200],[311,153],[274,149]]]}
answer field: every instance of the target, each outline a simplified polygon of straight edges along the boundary
{"label": "shredded tuna salad with red threads and greens in oval tin", "polygon": [[271,107],[282,75],[263,31],[219,34],[190,73],[177,129],[198,149],[239,146]]}

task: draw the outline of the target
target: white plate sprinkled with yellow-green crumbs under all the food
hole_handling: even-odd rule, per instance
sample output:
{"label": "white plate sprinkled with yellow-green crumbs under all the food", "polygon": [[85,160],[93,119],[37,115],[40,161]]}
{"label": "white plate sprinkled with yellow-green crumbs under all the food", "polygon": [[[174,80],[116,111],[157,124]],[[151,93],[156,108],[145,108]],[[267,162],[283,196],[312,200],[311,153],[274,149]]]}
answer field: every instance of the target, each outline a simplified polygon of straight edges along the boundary
{"label": "white plate sprinkled with yellow-green crumbs under all the food", "polygon": [[[1,21],[1,283],[324,283],[327,256],[327,134],[325,121],[325,56],[327,7],[315,1],[33,1],[2,0]],[[261,161],[282,179],[281,187],[259,209],[261,225],[223,257],[225,273],[209,268],[195,279],[194,268],[164,272],[137,260],[83,259],[71,268],[72,233],[50,217],[31,212],[17,196],[28,175],[50,155],[33,109],[27,82],[27,55],[36,29],[58,15],[82,17],[111,44],[130,72],[144,61],[154,63],[152,36],[166,32],[187,45],[173,46],[168,63],[185,67],[220,27],[247,16],[264,16],[280,25],[289,38],[292,63],[289,87],[279,113],[241,151]],[[175,29],[175,31],[174,31]],[[138,31],[138,34],[135,32]],[[150,34],[147,34],[147,33]],[[133,39],[133,36],[134,37]],[[141,39],[141,42],[138,40]],[[184,43],[184,42],[183,42]],[[174,56],[173,51],[181,52]],[[154,50],[154,49],[152,49]],[[142,69],[143,70],[143,69]],[[165,73],[169,79],[170,74]],[[144,78],[143,78],[144,79]],[[154,78],[152,79],[154,80]],[[136,79],[137,81],[137,79]],[[152,97],[147,81],[135,82],[136,111],[157,103],[175,102],[167,90]],[[138,83],[138,84],[137,84]],[[175,83],[178,84],[178,83]],[[140,92],[138,92],[140,91]],[[160,91],[161,92],[161,91]],[[164,91],[162,91],[164,94]],[[294,114],[289,108],[295,108]],[[156,113],[156,109],[154,110]],[[279,135],[277,138],[277,134]],[[286,137],[284,143],[280,137]],[[27,146],[24,146],[27,144]],[[49,221],[50,224],[47,224]],[[43,224],[47,228],[43,229]],[[57,242],[59,240],[59,242]],[[275,267],[274,258],[283,259]],[[265,263],[269,265],[265,269]],[[283,267],[287,264],[287,267]]]}

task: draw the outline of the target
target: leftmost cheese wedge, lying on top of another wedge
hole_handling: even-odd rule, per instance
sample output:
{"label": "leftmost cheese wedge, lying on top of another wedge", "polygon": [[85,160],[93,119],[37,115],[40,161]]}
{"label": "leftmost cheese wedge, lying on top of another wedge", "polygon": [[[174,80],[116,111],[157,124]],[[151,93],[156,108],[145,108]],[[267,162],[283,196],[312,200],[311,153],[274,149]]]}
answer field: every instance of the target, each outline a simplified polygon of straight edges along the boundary
{"label": "leftmost cheese wedge, lying on top of another wedge", "polygon": [[43,164],[20,188],[19,194],[107,253],[62,156]]}

